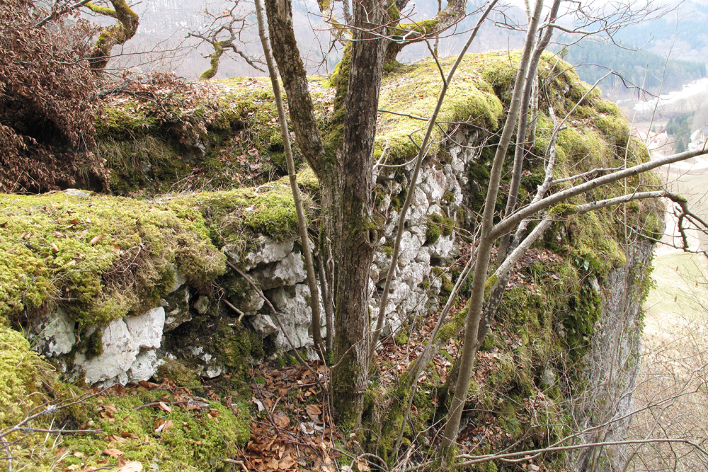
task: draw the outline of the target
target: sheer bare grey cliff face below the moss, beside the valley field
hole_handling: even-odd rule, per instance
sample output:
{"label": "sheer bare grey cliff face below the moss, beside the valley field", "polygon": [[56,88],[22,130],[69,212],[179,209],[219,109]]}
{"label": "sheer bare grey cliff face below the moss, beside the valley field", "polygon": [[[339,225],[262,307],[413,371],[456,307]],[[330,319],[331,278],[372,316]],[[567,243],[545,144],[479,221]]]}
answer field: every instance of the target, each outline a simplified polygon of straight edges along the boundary
{"label": "sheer bare grey cliff face below the moss, beside the valley field", "polygon": [[[610,272],[603,290],[603,316],[595,323],[592,345],[583,359],[587,383],[573,418],[581,444],[622,441],[632,422],[636,376],[641,353],[641,303],[649,284],[653,243],[637,241],[627,248],[627,264]],[[573,471],[624,471],[626,444],[583,449],[569,454]]]}

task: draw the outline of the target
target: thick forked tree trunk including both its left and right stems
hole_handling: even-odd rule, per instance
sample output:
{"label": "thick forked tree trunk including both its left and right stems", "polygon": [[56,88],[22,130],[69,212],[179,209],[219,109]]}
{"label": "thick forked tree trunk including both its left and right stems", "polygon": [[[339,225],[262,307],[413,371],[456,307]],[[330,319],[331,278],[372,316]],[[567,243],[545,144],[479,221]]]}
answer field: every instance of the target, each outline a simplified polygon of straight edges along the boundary
{"label": "thick forked tree trunk including both its left and right stems", "polygon": [[386,2],[363,0],[354,4],[353,40],[343,65],[347,70],[342,71],[338,84],[336,111],[326,141],[314,117],[292,29],[290,1],[266,0],[265,9],[292,127],[320,183],[322,237],[331,241],[336,261],[333,401],[340,422],[355,426],[360,422],[368,386],[369,270],[381,226],[372,218],[372,169]]}

